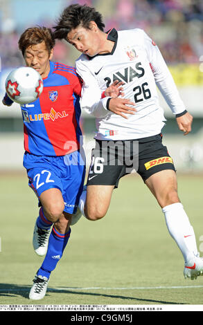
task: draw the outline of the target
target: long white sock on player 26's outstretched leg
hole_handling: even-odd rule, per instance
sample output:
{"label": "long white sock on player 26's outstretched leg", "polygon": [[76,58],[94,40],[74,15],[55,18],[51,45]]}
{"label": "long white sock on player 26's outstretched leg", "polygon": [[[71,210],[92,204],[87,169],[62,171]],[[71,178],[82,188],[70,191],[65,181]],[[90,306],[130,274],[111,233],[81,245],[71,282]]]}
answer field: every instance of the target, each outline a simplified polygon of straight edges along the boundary
{"label": "long white sock on player 26's outstretched leg", "polygon": [[181,250],[185,262],[197,255],[195,233],[182,203],[173,203],[163,207],[166,225],[170,236],[173,237]]}

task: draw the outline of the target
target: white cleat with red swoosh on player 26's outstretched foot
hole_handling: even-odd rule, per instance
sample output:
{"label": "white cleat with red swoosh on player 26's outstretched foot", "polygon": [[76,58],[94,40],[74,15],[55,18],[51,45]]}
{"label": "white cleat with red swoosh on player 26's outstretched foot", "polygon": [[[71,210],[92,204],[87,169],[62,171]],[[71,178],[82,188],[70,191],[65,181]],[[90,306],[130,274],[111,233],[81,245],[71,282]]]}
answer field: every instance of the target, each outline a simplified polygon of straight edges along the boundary
{"label": "white cleat with red swoosh on player 26's outstretched foot", "polygon": [[184,277],[188,277],[191,280],[197,279],[200,275],[203,275],[203,259],[201,257],[194,256],[191,261],[185,263]]}

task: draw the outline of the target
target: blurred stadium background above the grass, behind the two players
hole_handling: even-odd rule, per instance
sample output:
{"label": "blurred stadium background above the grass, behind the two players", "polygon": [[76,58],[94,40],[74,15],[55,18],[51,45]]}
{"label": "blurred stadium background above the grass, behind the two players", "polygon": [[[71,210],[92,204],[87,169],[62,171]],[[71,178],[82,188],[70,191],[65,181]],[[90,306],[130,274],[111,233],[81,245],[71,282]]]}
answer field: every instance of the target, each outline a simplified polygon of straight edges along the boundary
{"label": "blurred stadium background above the grass, behind the two players", "polygon": [[[173,114],[160,95],[167,124],[164,142],[179,172],[203,171],[203,1],[202,0],[0,0],[0,96],[8,73],[24,60],[17,48],[19,35],[37,24],[52,27],[63,8],[71,3],[96,7],[105,17],[106,30],[143,28],[166,59],[186,108],[193,115],[193,131],[186,138],[177,129]],[[74,65],[78,52],[57,41],[54,60]],[[82,113],[87,140],[94,137],[94,118]],[[0,171],[20,170],[24,153],[23,124],[17,104],[0,102]],[[88,145],[87,145],[88,147]],[[88,163],[88,162],[87,162]]]}

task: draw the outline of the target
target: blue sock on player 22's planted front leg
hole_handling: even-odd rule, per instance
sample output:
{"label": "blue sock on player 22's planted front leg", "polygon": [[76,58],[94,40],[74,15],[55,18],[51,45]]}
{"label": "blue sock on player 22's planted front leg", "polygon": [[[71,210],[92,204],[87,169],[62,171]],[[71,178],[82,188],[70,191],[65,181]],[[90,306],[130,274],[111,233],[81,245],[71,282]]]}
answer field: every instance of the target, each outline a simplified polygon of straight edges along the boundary
{"label": "blue sock on player 22's planted front leg", "polygon": [[42,275],[42,277],[50,277],[51,271],[53,271],[64,252],[69,236],[71,234],[71,228],[66,234],[60,234],[52,228],[51,234],[48,241],[48,249],[46,252],[46,257],[42,263],[41,268],[37,271],[37,275]]}

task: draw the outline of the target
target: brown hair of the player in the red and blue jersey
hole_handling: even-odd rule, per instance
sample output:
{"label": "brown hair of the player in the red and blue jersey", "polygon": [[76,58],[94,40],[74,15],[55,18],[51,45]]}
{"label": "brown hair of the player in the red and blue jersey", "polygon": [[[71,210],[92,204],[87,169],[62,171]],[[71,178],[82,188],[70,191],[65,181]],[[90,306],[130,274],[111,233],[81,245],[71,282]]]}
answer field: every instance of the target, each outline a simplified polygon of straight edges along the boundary
{"label": "brown hair of the player in the red and blue jersey", "polygon": [[26,48],[44,41],[48,54],[51,53],[52,48],[55,46],[55,38],[51,28],[44,26],[35,26],[27,28],[20,36],[18,41],[19,50],[24,56]]}

